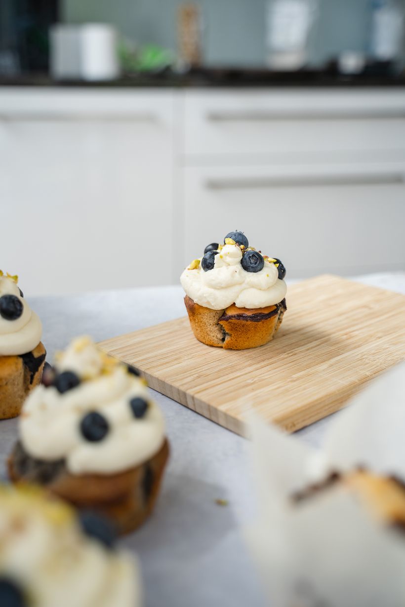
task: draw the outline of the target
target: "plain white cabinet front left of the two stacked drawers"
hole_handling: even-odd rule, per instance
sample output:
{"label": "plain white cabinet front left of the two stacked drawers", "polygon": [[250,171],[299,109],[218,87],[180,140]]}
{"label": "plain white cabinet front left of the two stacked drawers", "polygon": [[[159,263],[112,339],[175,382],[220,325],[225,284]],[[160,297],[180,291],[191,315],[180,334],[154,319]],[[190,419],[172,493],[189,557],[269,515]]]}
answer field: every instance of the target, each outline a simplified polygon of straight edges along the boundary
{"label": "plain white cabinet front left of the two stacked drawers", "polygon": [[0,90],[0,267],[27,294],[172,282],[173,99]]}

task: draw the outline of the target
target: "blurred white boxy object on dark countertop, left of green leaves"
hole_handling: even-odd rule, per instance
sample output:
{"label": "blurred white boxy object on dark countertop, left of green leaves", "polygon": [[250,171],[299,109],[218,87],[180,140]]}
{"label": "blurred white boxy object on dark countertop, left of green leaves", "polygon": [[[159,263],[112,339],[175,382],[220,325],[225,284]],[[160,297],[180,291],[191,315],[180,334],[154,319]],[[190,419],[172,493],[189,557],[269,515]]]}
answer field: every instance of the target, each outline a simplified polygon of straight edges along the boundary
{"label": "blurred white boxy object on dark countertop, left of green leaves", "polygon": [[111,25],[54,25],[50,49],[56,80],[114,80],[120,74],[117,32]]}

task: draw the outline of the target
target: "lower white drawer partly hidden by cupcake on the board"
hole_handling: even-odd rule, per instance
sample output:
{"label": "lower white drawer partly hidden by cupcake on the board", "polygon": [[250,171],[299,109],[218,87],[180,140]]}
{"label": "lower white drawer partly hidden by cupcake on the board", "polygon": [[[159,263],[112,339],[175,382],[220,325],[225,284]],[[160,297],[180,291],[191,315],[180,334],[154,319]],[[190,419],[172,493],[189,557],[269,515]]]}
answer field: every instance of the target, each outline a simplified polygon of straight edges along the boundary
{"label": "lower white drawer partly hidden by cupcake on the board", "polygon": [[404,269],[404,175],[381,163],[186,168],[183,265],[240,229],[290,277]]}

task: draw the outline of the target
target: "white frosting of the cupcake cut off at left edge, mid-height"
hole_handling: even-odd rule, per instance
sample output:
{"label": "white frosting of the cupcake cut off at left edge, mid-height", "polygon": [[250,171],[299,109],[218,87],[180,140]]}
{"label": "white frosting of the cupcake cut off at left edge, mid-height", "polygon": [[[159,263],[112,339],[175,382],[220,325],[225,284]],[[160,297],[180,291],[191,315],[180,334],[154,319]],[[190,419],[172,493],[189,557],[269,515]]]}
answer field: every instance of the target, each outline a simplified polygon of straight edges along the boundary
{"label": "white frosting of the cupcake cut off at left edge, mid-height", "polygon": [[41,320],[19,294],[16,282],[0,276],[0,297],[15,295],[21,301],[22,314],[16,320],[7,320],[0,315],[0,356],[26,354],[41,341]]}

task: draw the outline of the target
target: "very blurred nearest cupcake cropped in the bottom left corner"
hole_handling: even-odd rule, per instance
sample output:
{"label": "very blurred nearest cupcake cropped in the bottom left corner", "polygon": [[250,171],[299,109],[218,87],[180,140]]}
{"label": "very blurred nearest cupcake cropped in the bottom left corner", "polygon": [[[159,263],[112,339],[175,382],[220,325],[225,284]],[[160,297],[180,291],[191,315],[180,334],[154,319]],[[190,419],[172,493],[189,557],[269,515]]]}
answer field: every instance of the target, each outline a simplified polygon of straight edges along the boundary
{"label": "very blurred nearest cupcake cropped in the bottom left corner", "polygon": [[140,607],[138,567],[110,527],[36,487],[0,486],[0,605]]}

